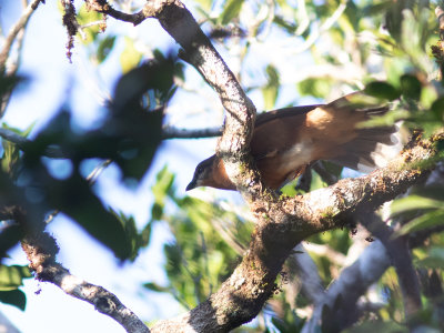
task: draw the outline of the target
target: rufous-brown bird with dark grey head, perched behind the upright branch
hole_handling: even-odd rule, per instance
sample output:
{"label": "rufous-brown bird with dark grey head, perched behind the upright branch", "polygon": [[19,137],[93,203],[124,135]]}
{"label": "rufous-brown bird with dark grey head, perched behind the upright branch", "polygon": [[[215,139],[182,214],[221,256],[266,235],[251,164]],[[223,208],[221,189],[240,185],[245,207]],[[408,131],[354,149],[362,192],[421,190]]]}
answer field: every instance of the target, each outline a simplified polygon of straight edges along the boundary
{"label": "rufous-brown bird with dark grey head, perched behind the upright branch", "polygon": [[[401,150],[398,125],[361,127],[384,115],[389,104],[354,92],[327,104],[284,108],[256,117],[250,153],[264,185],[279,190],[319,160],[361,172],[385,167]],[[236,190],[223,161],[212,155],[198,164],[190,191],[198,186]]]}

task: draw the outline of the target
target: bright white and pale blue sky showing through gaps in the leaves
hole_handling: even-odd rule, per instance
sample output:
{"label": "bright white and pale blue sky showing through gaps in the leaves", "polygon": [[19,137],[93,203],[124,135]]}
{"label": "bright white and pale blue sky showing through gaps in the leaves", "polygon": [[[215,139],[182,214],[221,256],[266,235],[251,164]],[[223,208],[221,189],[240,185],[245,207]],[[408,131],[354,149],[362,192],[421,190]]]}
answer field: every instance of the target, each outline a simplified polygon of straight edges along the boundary
{"label": "bright white and pale blue sky showing through gaps in the leaves", "polygon": [[[18,19],[20,14],[19,2],[0,0],[0,23],[4,31],[8,31],[9,27]],[[14,93],[8,112],[1,120],[2,123],[20,129],[33,124],[31,138],[44,128],[51,115],[63,103],[71,105],[78,125],[84,128],[94,125],[103,111],[101,109],[102,98],[112,91],[120,74],[118,57],[119,50],[123,48],[122,43],[115,46],[115,52],[99,69],[89,63],[87,60],[88,50],[81,46],[77,46],[73,50],[73,63],[67,60],[67,33],[61,24],[57,2],[47,1],[46,4],[39,7],[31,18],[20,69],[21,73],[30,77],[30,82],[21,92]],[[130,37],[139,36],[148,44],[160,47],[163,50],[176,48],[171,38],[154,20],[143,22],[142,27],[138,28],[133,28],[132,24],[115,22],[112,19],[109,19],[108,24],[107,33],[119,32]],[[258,46],[258,54],[269,53],[260,48],[261,46]],[[221,53],[228,64],[235,68],[235,60],[232,60],[230,54],[223,50],[221,50]],[[252,53],[254,54],[254,50]],[[258,56],[254,57],[258,58]],[[275,62],[299,61],[299,65],[303,65],[304,61],[306,62],[306,58],[284,61],[280,59],[279,52],[275,52],[274,57]],[[252,62],[251,68],[246,68],[245,71],[258,77],[259,67],[259,64]],[[201,84],[200,94],[191,98],[189,93],[179,94],[180,102],[172,107],[175,112],[169,114],[170,122],[184,128],[221,124],[222,113],[220,113],[220,117],[214,117],[214,114],[193,115],[193,109],[199,111],[204,108],[204,104],[210,103],[219,109],[221,107],[216,94],[202,81],[195,70],[188,69],[186,78],[190,82]],[[265,80],[263,73],[259,78]],[[256,84],[260,84],[260,82]],[[294,85],[283,89],[279,99],[281,107],[294,101]],[[107,93],[103,93],[103,91]],[[258,109],[261,110],[262,97],[258,93],[252,93],[250,97]],[[306,100],[306,102],[314,103],[316,101]],[[182,110],[178,110],[179,108],[183,108],[188,112],[182,112]],[[132,214],[141,228],[150,218],[152,203],[150,188],[154,183],[155,172],[168,164],[170,170],[176,173],[178,194],[183,195],[195,164],[211,155],[214,152],[214,147],[215,139],[167,141],[162,143],[150,172],[138,188],[128,189],[123,186],[119,182],[118,168],[111,165],[101,174],[95,189],[107,204],[121,210],[125,214]],[[230,198],[235,202],[241,201],[239,195],[228,194],[228,192],[220,191],[218,195]],[[112,253],[85,234],[78,224],[62,215],[59,215],[49,225],[49,231],[60,244],[58,261],[68,268],[72,274],[113,292],[123,304],[134,311],[142,320],[167,319],[183,312],[183,309],[180,309],[171,296],[148,292],[141,287],[141,284],[145,282],[152,281],[164,284],[167,281],[162,269],[164,264],[162,246],[165,242],[172,240],[167,225],[155,224],[149,249],[142,251],[134,263],[123,265],[118,263]],[[6,264],[28,264],[20,248],[14,248],[10,255],[11,259],[6,260]],[[0,312],[24,333],[124,332],[113,320],[97,313],[92,305],[65,295],[52,284],[38,283],[33,279],[29,279],[26,280],[22,290],[26,292],[28,301],[26,311],[22,312],[13,306],[0,303]]]}

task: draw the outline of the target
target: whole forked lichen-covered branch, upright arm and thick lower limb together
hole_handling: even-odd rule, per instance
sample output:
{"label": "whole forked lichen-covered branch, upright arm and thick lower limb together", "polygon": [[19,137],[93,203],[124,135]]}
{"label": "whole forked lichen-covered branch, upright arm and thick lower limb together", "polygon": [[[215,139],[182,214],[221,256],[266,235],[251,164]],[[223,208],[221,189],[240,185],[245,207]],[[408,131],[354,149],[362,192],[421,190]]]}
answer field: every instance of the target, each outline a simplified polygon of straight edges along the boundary
{"label": "whole forked lichen-covered branch, upright arm and thick lower limb together", "polygon": [[[250,249],[221,289],[189,313],[159,322],[153,332],[226,332],[252,320],[276,290],[275,278],[297,243],[314,233],[346,224],[356,211],[371,212],[424,179],[432,168],[432,163],[423,169],[405,167],[406,162],[420,162],[434,155],[431,142],[423,142],[370,175],[342,180],[294,199],[279,200],[273,193],[263,193],[260,178],[248,160],[255,110],[233,73],[179,0],[150,1],[139,13],[157,18],[184,49],[182,58],[219,93],[228,112],[218,154],[230,179],[251,202],[258,219]],[[137,16],[124,19],[139,22]]]}

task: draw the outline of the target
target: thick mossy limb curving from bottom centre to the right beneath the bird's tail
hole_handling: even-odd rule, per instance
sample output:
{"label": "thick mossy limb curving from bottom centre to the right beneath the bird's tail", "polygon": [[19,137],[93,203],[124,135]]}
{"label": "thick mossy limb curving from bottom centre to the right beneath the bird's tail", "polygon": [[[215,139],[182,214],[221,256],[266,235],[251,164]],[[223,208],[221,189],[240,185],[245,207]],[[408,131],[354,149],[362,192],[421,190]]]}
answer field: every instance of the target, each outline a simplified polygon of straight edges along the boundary
{"label": "thick mossy limb curving from bottom centre to the right beneath the bird's tail", "polygon": [[233,274],[206,302],[178,319],[160,322],[152,331],[226,332],[249,322],[274,292],[274,280],[297,243],[314,233],[342,226],[356,211],[373,211],[405,192],[432,168],[412,165],[434,153],[430,142],[420,142],[389,167],[369,175],[342,180],[303,196],[279,201],[271,198],[268,206],[258,204],[259,223],[250,249]]}

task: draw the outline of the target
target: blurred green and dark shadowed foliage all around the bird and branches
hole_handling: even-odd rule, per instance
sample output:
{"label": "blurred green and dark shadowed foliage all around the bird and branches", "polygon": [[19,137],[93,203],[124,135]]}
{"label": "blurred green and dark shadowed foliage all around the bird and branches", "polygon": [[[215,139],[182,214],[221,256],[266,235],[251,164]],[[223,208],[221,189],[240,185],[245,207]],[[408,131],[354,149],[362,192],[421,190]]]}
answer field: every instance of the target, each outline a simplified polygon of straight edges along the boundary
{"label": "blurred green and dark shadowed foliage all around the bird and branches", "polygon": [[[272,6],[270,1],[236,0],[193,3],[195,12],[204,21],[203,29],[210,36],[214,31],[224,32],[223,39],[214,38],[218,47],[228,54],[238,51],[236,60],[241,65],[235,74],[264,109],[299,104],[300,97],[329,100],[344,91],[363,89],[370,95],[395,104],[393,112],[364,125],[393,124],[403,120],[406,130],[421,132],[424,137],[442,130],[443,73],[435,64],[442,44],[436,33],[433,1],[271,2]],[[118,6],[119,1],[113,4]],[[150,281],[144,287],[170,293],[181,305],[191,309],[214,292],[233,271],[254,226],[238,209],[229,210],[225,201],[178,194],[174,174],[169,168],[161,171],[150,169],[161,144],[162,127],[170,117],[164,114],[165,105],[180,104],[181,112],[195,108],[195,95],[188,103],[183,103],[183,99],[173,99],[175,92],[183,93],[189,89],[183,82],[192,85],[188,81],[191,74],[183,70],[183,63],[172,53],[153,49],[133,36],[108,33],[103,16],[82,7],[78,22],[94,21],[101,23],[84,28],[83,37],[79,32],[83,46],[77,47],[85,48],[98,68],[117,56],[123,73],[105,119],[95,129],[79,132],[73,127],[70,107],[63,105],[32,142],[19,145],[2,140],[1,204],[8,193],[10,202],[4,204],[22,205],[33,212],[34,216],[29,218],[28,224],[39,223],[36,221],[42,221],[48,212],[58,210],[72,218],[120,260],[134,260],[150,244],[153,225],[168,224],[173,235],[173,241],[164,245],[168,282],[160,285]],[[290,50],[276,48],[280,40],[295,47]],[[141,43],[144,48],[140,48]],[[266,51],[254,53],[258,46]],[[150,50],[141,51],[144,49]],[[285,61],[278,57],[281,51],[286,52]],[[306,51],[304,56],[299,54],[302,51]],[[309,68],[300,65],[300,59],[309,56]],[[151,60],[141,64],[145,58]],[[316,72],[315,68],[324,71]],[[261,78],[264,79],[262,82]],[[17,89],[19,81],[16,77],[2,77],[0,95]],[[182,87],[176,87],[178,82],[182,82]],[[201,99],[201,85],[193,88],[193,93]],[[214,115],[210,113],[211,108],[205,107],[210,117]],[[29,134],[29,130],[12,130],[23,138]],[[436,150],[442,159],[443,144],[437,143]],[[54,154],[71,165],[68,175],[60,178],[48,168],[48,155],[53,158]],[[123,182],[133,180],[139,183],[147,172],[157,173],[151,218],[142,228],[138,228],[133,216],[103,204],[82,172],[82,163],[90,159],[113,161]],[[327,163],[323,165],[334,179],[346,175],[346,170]],[[311,171],[310,190],[327,183],[325,174]],[[304,191],[296,182],[283,189],[285,195]],[[200,193],[210,196],[211,192]],[[395,236],[440,230],[444,221],[443,193],[441,184],[415,189],[408,196],[396,200],[391,206],[391,219],[401,221],[403,225]],[[22,236],[23,230],[17,224],[0,231],[1,255],[6,256]],[[350,264],[346,259],[352,258],[359,240],[344,229],[315,235],[307,243],[312,245],[310,254],[317,265],[317,274],[327,286]],[[424,312],[417,320],[427,327],[442,327],[444,235],[434,233],[413,254],[423,285]],[[26,299],[19,287],[26,278],[29,273],[23,268],[0,266],[0,301],[24,309]],[[310,320],[307,310],[313,304],[300,292],[296,280],[287,281],[282,276],[280,283],[273,299],[276,302],[270,302],[262,314],[266,320],[240,331],[302,330]],[[292,293],[291,287],[296,293]],[[374,290],[373,296],[382,306],[366,312],[346,332],[406,331],[395,272],[389,270]],[[369,294],[363,299],[370,299]],[[340,306],[341,297],[337,297],[333,307],[323,309],[320,331],[345,329],[334,321],[335,307]]]}

